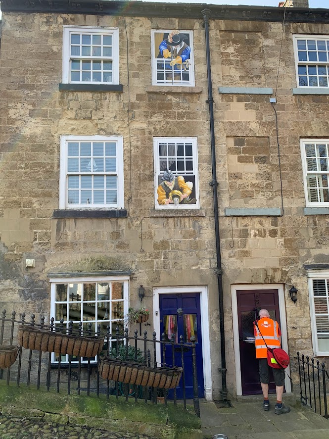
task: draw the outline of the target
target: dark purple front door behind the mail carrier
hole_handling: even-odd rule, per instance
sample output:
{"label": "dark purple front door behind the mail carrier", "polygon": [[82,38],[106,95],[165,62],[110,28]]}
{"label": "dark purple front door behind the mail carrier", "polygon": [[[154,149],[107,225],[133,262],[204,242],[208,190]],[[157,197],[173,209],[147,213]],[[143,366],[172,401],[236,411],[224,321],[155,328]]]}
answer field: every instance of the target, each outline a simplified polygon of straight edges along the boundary
{"label": "dark purple front door behind the mail carrier", "polygon": [[[258,360],[255,345],[248,343],[247,337],[253,337],[253,322],[259,318],[259,310],[265,308],[270,317],[280,325],[278,290],[237,290],[237,320],[239,327],[239,350],[242,395],[261,394]],[[275,392],[272,373],[270,375],[270,393]]]}

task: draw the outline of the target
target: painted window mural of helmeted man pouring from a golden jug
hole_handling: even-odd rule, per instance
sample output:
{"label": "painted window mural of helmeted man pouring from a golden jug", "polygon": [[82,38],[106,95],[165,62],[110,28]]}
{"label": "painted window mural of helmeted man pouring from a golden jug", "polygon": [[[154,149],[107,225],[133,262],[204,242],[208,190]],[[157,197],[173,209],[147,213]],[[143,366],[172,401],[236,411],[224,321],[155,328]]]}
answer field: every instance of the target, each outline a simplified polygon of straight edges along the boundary
{"label": "painted window mural of helmeted man pouring from a golden jug", "polygon": [[157,209],[199,208],[196,138],[154,138]]}

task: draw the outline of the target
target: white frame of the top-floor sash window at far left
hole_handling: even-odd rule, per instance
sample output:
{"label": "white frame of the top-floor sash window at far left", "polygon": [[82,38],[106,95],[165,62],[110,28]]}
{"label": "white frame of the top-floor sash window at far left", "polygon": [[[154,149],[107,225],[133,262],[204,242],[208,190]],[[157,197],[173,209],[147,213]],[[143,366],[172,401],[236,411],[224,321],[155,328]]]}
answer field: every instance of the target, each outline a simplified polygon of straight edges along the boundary
{"label": "white frame of the top-floor sash window at far left", "polygon": [[[86,33],[86,34],[107,34],[112,35],[112,56],[72,56],[74,58],[85,60],[112,60],[112,82],[103,81],[71,81],[70,69],[70,45],[71,34]],[[63,84],[102,84],[114,85],[119,84],[119,29],[114,27],[99,27],[99,26],[63,26]]]}

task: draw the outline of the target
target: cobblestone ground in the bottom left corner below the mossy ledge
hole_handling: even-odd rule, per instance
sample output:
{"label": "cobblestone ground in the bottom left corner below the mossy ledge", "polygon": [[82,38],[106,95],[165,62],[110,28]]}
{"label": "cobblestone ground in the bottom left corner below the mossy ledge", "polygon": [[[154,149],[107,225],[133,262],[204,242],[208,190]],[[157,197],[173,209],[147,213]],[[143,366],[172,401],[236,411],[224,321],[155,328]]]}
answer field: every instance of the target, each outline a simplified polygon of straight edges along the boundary
{"label": "cobblestone ground in the bottom left corner below the mossy ledge", "polygon": [[1,439],[152,439],[133,434],[121,435],[105,430],[80,427],[72,424],[61,425],[42,419],[18,418],[0,415]]}

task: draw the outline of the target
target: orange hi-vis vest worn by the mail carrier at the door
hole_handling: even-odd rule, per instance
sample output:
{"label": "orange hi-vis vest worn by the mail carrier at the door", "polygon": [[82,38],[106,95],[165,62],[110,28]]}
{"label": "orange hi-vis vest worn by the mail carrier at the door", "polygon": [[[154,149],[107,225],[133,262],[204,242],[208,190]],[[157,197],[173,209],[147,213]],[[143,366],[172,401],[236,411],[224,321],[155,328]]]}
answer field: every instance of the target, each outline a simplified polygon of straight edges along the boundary
{"label": "orange hi-vis vest worn by the mail carrier at the door", "polygon": [[[267,347],[264,343],[264,340],[268,347],[280,347],[280,339],[279,339],[279,324],[275,320],[270,319],[269,317],[263,317],[258,320],[257,326],[255,327],[255,346],[256,346],[256,358],[267,358]],[[262,336],[264,337],[264,340]]]}

